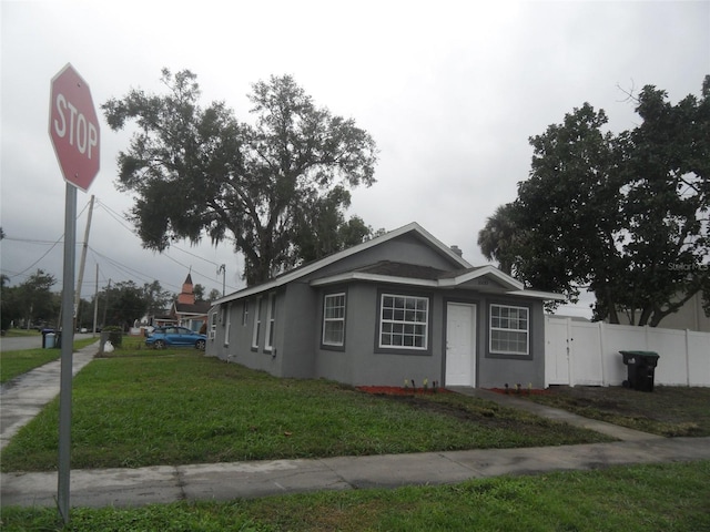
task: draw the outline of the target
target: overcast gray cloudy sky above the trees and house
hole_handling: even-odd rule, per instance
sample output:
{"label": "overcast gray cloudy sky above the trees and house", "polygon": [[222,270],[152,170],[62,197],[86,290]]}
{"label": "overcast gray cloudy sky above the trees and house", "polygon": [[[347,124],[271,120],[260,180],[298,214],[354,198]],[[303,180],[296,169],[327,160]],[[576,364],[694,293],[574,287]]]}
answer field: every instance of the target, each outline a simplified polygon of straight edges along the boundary
{"label": "overcast gray cloudy sky above the trees and house", "polygon": [[[377,183],[351,214],[374,228],[418,222],[473,264],[476,237],[529,172],[528,139],[585,102],[613,132],[639,119],[627,92],[653,84],[674,103],[710,73],[710,1],[151,1],[1,2],[2,274],[17,285],[38,268],[60,289],[64,190],[49,137],[51,79],[68,63],[94,105],[130,89],[160,92],[163,66],[197,75],[204,105],[248,120],[254,82],[292,74],[316,104],[353,117],[381,150]],[[192,278],[243,286],[229,243],[166,254],[142,248],[115,188],[128,132],[101,117],[101,171],[78,193],[78,257],[95,196],[82,296],[112,282]],[[77,260],[79,264],[79,260]],[[588,315],[580,304],[568,314]]]}

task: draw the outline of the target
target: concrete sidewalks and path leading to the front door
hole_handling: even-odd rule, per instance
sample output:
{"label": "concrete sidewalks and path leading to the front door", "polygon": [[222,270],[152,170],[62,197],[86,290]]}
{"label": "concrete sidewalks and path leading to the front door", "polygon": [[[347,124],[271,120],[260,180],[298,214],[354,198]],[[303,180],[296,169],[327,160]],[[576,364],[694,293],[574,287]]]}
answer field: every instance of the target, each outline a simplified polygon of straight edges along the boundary
{"label": "concrete sidewalks and path leading to the front door", "polygon": [[[74,354],[74,372],[93,358],[97,349],[94,345]],[[3,442],[10,432],[14,433],[41,409],[41,401],[49,401],[59,392],[58,386],[53,391],[50,389],[59,382],[59,365],[54,374],[47,366],[32,371],[36,372],[42,377],[30,378],[28,375],[27,380],[20,379],[22,382],[2,390]],[[45,389],[41,397],[37,388]],[[73,470],[70,502],[73,507],[135,507],[320,490],[446,484],[501,474],[588,470],[617,464],[710,460],[710,438],[661,438],[487,390],[456,388],[456,391],[598,430],[621,441],[531,449]],[[27,398],[27,403],[23,398]],[[8,405],[11,400],[16,405]],[[8,408],[14,410],[14,415],[8,416],[6,429]],[[2,505],[55,505],[55,472],[2,473],[0,484]]]}

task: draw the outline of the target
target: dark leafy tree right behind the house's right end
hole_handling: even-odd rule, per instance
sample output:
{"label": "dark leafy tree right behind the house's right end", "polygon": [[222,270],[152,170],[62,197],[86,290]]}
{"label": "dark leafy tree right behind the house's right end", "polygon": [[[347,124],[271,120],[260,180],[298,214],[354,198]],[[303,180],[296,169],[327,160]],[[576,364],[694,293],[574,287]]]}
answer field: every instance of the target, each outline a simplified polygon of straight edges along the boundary
{"label": "dark leafy tree right behind the house's right end", "polygon": [[609,298],[622,288],[618,272],[626,267],[617,247],[626,136],[604,133],[607,121],[602,110],[586,103],[530,139],[530,175],[518,184],[511,207],[515,224],[525,231],[510,253],[526,284],[574,301],[594,285],[598,305],[613,314]]}

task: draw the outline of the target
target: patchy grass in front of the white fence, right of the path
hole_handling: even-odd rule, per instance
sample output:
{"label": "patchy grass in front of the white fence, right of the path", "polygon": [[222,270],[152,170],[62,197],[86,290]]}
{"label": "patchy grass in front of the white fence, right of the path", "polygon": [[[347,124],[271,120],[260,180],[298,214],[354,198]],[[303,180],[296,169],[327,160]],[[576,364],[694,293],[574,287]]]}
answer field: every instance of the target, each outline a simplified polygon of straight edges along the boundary
{"label": "patchy grass in front of the white fence, right of the path", "polygon": [[657,386],[646,392],[622,387],[559,387],[529,399],[659,436],[710,436],[710,388]]}

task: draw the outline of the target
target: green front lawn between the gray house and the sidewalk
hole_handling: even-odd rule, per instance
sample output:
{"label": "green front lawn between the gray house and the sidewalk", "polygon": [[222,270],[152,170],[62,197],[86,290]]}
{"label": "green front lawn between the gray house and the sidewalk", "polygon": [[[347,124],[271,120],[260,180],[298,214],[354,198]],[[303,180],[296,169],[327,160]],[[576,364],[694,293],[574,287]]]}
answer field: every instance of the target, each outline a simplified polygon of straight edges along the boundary
{"label": "green front lawn between the gray house and the sidewalk", "polygon": [[[97,359],[75,378],[72,467],[575,444],[602,434],[456,393],[376,397],[277,379],[194,350]],[[2,450],[3,471],[52,470],[58,401]]]}

